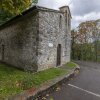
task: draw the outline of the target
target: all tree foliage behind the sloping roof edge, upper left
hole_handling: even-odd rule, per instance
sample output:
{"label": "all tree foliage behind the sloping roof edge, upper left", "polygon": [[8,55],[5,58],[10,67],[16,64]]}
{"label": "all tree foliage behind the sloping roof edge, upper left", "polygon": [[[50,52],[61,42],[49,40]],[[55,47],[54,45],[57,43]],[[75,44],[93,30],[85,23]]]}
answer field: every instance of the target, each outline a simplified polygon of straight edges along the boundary
{"label": "all tree foliage behind the sloping roof edge, upper left", "polygon": [[21,14],[38,0],[0,0],[0,25],[11,19],[13,16]]}

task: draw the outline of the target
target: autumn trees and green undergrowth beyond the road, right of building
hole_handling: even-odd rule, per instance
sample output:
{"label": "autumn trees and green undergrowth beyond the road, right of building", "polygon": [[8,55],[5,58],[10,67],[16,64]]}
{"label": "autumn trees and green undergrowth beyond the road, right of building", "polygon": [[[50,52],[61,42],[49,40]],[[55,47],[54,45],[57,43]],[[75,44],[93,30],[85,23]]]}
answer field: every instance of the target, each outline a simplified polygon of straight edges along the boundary
{"label": "autumn trees and green undergrowth beyond the road, right of building", "polygon": [[72,58],[100,61],[100,20],[82,22],[72,30]]}

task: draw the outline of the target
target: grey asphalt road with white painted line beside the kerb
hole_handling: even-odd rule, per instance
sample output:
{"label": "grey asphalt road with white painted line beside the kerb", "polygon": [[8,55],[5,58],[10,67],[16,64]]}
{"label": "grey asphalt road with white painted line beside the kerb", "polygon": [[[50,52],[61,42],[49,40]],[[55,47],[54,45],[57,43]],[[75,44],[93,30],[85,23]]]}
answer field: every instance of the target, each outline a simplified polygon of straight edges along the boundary
{"label": "grey asphalt road with white painted line beside the kerb", "polygon": [[100,64],[77,61],[80,74],[63,84],[46,100],[100,100]]}

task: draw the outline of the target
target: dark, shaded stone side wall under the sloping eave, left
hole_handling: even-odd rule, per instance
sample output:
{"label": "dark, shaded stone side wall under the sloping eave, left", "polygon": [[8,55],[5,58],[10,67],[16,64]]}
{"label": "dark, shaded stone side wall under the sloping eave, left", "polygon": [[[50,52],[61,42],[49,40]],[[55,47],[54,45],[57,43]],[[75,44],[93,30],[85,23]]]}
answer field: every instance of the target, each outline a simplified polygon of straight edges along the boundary
{"label": "dark, shaded stone side wall under the sloping eave, left", "polygon": [[38,12],[31,11],[0,29],[0,60],[24,70],[37,70],[38,26]]}

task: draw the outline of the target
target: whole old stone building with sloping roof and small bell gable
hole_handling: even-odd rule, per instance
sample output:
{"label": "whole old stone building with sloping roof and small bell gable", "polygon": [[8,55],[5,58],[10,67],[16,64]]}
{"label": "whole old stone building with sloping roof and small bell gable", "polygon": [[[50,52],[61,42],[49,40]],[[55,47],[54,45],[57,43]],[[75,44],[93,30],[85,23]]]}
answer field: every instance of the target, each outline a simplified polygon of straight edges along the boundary
{"label": "whole old stone building with sloping roof and small bell gable", "polygon": [[70,61],[71,13],[33,6],[0,26],[0,61],[41,71]]}

